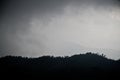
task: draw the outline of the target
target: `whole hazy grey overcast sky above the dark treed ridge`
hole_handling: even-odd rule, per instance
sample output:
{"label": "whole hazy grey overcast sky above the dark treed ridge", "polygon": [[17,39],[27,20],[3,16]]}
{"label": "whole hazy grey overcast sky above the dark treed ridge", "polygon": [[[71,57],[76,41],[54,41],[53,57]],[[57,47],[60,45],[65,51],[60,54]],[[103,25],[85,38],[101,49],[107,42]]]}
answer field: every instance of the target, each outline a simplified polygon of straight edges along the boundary
{"label": "whole hazy grey overcast sky above the dark treed ridge", "polygon": [[99,52],[120,58],[119,0],[1,0],[0,56]]}

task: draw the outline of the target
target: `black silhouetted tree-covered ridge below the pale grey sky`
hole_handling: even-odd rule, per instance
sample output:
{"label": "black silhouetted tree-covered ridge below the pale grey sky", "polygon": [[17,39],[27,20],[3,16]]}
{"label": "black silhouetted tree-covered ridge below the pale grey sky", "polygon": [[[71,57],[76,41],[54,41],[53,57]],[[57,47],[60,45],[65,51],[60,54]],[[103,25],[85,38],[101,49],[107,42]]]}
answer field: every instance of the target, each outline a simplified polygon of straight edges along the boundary
{"label": "black silhouetted tree-covered ridge below the pale grey sky", "polygon": [[71,57],[0,58],[0,76],[4,78],[119,78],[120,61],[92,53]]}

